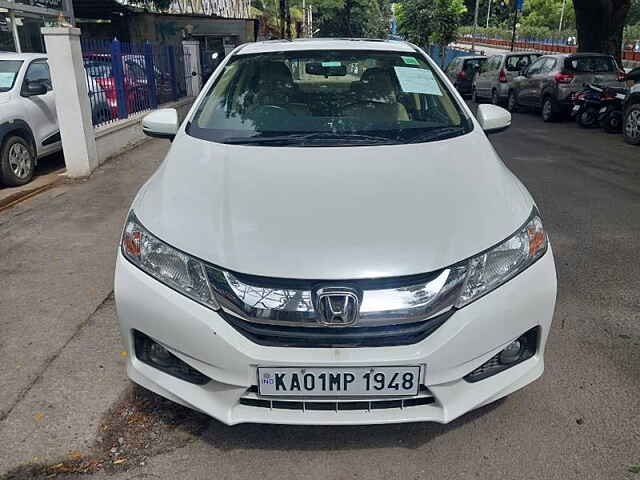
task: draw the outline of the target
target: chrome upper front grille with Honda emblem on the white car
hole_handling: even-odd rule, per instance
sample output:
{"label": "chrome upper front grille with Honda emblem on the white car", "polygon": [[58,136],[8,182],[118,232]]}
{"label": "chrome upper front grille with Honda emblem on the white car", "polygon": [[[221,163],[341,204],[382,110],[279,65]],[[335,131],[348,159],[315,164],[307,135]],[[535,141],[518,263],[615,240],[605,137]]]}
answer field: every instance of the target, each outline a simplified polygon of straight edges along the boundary
{"label": "chrome upper front grille with Honda emblem on the white car", "polygon": [[[455,311],[465,266],[407,277],[346,281],[255,277],[207,266],[220,314],[261,345],[358,347],[409,345],[424,339]],[[336,293],[337,292],[337,293]],[[327,319],[326,296],[356,305],[355,316]],[[347,302],[346,297],[351,296]],[[324,307],[324,308],[323,308]],[[335,322],[333,321],[335,320]]]}

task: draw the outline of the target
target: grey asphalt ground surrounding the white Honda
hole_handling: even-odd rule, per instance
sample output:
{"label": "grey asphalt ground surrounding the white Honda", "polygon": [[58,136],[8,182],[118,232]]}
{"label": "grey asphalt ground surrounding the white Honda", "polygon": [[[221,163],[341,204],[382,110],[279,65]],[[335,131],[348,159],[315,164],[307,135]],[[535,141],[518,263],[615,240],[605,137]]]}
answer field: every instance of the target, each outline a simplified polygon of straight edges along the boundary
{"label": "grey asphalt ground surrounding the white Honda", "polygon": [[640,150],[529,113],[491,138],[556,258],[540,380],[449,425],[367,427],[227,427],[134,388],[112,275],[154,140],[0,213],[0,478],[640,478]]}

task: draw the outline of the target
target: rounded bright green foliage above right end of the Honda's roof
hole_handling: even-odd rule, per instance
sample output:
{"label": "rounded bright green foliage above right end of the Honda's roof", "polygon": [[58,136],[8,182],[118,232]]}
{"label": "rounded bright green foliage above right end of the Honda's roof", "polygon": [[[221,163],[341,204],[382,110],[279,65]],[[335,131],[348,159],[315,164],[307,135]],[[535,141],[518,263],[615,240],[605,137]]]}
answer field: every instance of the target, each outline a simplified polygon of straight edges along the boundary
{"label": "rounded bright green foliage above right end of the Honda's roof", "polygon": [[398,31],[417,45],[447,45],[466,11],[464,0],[404,0],[396,12]]}

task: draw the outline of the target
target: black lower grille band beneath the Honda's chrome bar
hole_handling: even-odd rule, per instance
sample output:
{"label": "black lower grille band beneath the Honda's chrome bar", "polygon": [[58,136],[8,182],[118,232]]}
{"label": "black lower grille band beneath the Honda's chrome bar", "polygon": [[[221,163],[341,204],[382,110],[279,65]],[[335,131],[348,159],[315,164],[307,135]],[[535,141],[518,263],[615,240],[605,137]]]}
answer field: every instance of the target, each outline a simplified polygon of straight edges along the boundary
{"label": "black lower grille band beneath the Honda's chrome bar", "polygon": [[380,327],[286,327],[256,324],[220,311],[222,317],[250,340],[277,347],[383,347],[417,343],[446,322],[455,310],[449,310],[422,322]]}

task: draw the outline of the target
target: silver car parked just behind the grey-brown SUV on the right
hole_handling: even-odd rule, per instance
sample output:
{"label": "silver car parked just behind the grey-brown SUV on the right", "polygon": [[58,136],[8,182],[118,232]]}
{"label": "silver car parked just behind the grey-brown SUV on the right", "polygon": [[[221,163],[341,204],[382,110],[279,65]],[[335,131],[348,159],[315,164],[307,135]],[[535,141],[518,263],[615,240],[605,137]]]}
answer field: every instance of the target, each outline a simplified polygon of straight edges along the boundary
{"label": "silver car parked just behind the grey-brown SUV on the right", "polygon": [[505,52],[489,57],[474,78],[473,101],[479,103],[490,99],[494,105],[504,104],[513,80],[540,55],[537,52]]}

